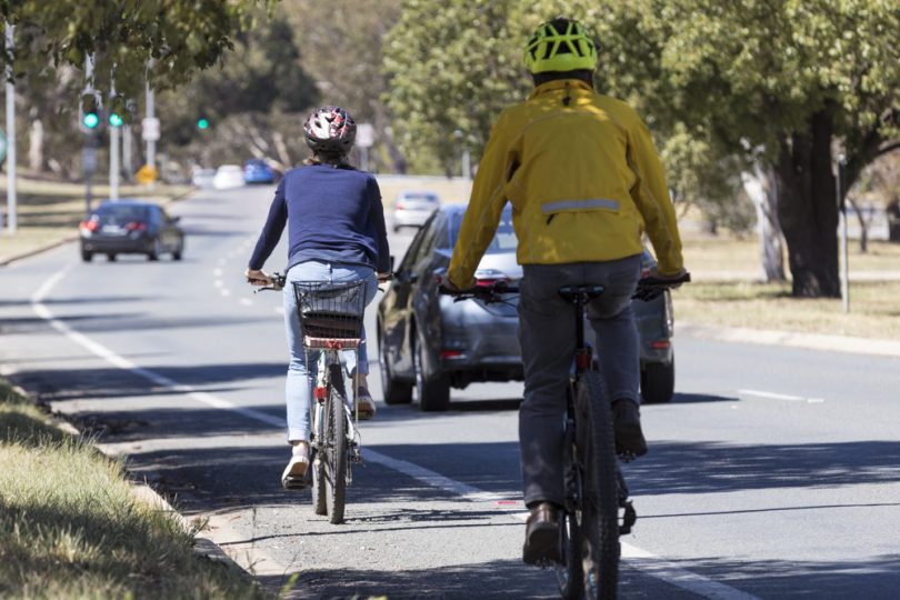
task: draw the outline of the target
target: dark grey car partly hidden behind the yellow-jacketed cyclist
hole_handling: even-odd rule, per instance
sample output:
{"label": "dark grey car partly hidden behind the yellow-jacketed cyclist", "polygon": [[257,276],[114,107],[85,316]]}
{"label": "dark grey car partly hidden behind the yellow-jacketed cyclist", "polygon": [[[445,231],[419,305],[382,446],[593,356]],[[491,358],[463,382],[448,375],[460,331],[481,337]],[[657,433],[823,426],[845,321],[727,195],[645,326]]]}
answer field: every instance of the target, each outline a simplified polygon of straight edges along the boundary
{"label": "dark grey car partly hidden behind the yellow-jacketed cyclist", "polygon": [[[414,390],[422,410],[446,410],[450,388],[523,377],[517,296],[510,294],[509,303],[484,304],[476,299],[454,302],[438,293],[434,272],[450,262],[464,209],[444,206],[432,214],[413,238],[378,307],[378,348],[388,404],[411,402]],[[522,269],[516,262],[516,246],[507,207],[476,279],[517,284]],[[644,253],[644,259],[649,269],[652,258]],[[674,388],[669,292],[633,306],[641,333],[644,401],[669,401]]]}

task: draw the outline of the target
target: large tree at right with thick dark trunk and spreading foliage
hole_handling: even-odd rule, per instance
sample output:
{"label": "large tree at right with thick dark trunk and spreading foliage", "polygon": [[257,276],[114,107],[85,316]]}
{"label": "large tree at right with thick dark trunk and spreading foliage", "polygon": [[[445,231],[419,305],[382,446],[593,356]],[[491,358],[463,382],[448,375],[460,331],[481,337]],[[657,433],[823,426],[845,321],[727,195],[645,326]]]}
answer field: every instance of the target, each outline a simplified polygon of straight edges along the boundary
{"label": "large tree at right with thick dark trunk and spreading foliage", "polygon": [[638,0],[598,27],[612,48],[602,78],[639,97],[658,130],[704,128],[773,169],[793,294],[839,296],[832,147],[852,183],[898,134],[900,6]]}

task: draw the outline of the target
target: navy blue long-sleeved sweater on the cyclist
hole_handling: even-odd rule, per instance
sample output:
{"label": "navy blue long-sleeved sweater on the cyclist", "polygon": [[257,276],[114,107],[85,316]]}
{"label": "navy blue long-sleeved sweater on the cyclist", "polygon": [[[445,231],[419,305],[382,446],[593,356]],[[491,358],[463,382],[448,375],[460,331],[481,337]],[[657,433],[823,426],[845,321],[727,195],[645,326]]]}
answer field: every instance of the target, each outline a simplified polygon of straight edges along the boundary
{"label": "navy blue long-sleeved sweater on the cyclist", "polygon": [[250,269],[262,269],[286,223],[288,269],[318,260],[366,264],[379,273],[390,270],[381,191],[369,173],[328,164],[288,171],[250,257]]}

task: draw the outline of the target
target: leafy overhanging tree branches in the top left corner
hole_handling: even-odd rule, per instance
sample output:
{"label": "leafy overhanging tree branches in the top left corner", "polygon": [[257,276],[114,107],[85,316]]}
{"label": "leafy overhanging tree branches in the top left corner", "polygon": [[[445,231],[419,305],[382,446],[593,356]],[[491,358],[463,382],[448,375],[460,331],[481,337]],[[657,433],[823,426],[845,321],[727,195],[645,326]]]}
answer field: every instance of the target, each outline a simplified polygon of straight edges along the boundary
{"label": "leafy overhanging tree branches in the top left corner", "polygon": [[62,64],[83,69],[93,54],[97,88],[109,89],[114,72],[116,88],[136,97],[150,59],[157,89],[182,84],[231,49],[234,32],[263,6],[274,0],[4,0],[0,13],[17,28],[17,79]]}

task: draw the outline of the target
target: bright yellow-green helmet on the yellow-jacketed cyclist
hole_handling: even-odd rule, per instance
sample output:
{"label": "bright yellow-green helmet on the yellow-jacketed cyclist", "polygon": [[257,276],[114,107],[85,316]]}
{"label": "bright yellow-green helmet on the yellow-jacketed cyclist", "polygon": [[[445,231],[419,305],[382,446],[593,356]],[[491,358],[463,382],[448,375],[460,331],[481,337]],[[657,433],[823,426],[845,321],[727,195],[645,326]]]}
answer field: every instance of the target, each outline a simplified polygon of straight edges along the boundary
{"label": "bright yellow-green helmet on the yellow-jacketed cyclist", "polygon": [[538,27],[526,47],[524,61],[531,73],[592,71],[597,66],[597,44],[581,23],[558,18]]}

